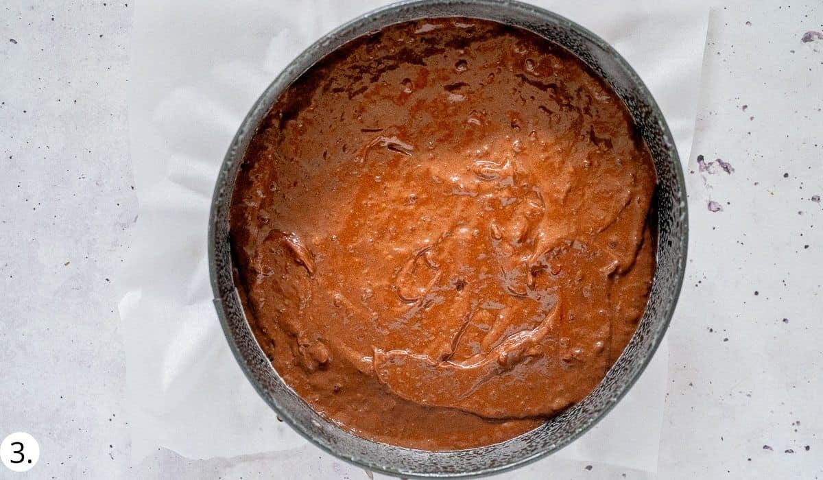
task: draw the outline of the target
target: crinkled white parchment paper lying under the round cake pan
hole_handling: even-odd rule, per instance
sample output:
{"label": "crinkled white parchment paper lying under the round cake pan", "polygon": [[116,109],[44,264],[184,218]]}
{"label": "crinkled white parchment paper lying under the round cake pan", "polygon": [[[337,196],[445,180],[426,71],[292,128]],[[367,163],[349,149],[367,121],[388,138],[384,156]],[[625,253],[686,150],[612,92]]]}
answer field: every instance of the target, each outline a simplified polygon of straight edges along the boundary
{"label": "crinkled white parchment paper lying under the round cake pan", "polygon": [[[686,163],[708,8],[699,2],[534,3],[593,30],[631,63],[663,109]],[[381,4],[137,5],[128,107],[140,213],[115,278],[134,460],[158,446],[195,459],[298,449],[295,454],[312,461],[320,454],[299,448],[305,440],[277,421],[230,353],[212,305],[208,208],[230,140],[268,83],[328,30]],[[667,357],[664,342],[621,403],[556,456],[655,471]]]}

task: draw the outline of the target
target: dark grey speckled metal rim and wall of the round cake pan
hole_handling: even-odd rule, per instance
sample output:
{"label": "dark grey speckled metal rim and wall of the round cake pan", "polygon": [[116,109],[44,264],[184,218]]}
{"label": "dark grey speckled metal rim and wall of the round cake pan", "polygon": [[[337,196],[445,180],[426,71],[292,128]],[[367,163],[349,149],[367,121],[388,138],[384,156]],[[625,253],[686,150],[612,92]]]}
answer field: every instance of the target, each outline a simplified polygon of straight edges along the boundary
{"label": "dark grey speckled metal rim and wall of the round cake pan", "polygon": [[[385,445],[343,431],[320,417],[281,380],[258,346],[235,289],[229,205],[251,137],[291,82],[320,58],[367,32],[401,21],[448,16],[499,21],[531,30],[570,50],[611,84],[635,119],[657,170],[658,266],[649,304],[634,337],[583,402],[537,429],[499,444],[430,452]],[[635,383],[663,339],[680,295],[688,243],[686,185],[677,150],[663,114],[635,71],[605,41],[574,22],[526,3],[494,0],[395,3],[358,17],[311,45],[268,86],[240,125],[221,166],[209,222],[209,267],[217,315],[232,352],[258,394],[296,431],[338,458],[381,473],[418,478],[500,473],[560,450],[588,431]]]}

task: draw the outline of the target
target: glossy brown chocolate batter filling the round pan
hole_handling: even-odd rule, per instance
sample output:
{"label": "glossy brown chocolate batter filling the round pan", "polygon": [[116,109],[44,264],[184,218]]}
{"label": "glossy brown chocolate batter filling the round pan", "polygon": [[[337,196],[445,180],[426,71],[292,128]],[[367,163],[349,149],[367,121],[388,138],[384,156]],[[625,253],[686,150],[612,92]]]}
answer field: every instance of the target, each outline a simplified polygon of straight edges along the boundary
{"label": "glossy brown chocolate batter filling the round pan", "polygon": [[277,101],[231,207],[249,322],[342,428],[489,445],[579,402],[643,315],[649,151],[564,49],[475,19],[347,44]]}

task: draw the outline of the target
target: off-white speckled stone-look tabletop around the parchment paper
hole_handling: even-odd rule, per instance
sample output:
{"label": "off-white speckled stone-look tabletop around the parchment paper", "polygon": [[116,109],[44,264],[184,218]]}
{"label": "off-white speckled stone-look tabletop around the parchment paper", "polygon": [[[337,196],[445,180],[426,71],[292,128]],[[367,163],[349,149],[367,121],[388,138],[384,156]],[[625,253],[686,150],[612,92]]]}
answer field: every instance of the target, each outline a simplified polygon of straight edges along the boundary
{"label": "off-white speckled stone-look tabletop around the parchment paper", "polygon": [[[0,478],[365,479],[319,450],[311,464],[288,451],[128,464],[109,279],[138,212],[125,110],[135,7],[0,2],[0,436],[28,431],[41,450],[29,473]],[[560,462],[547,477],[823,477],[823,211],[811,201],[823,195],[823,40],[802,43],[808,30],[823,31],[820,2],[714,8],[687,173],[691,248],[712,249],[690,265],[669,332],[658,475]],[[715,164],[704,182],[697,155],[735,171]]]}

